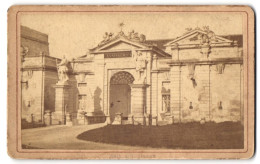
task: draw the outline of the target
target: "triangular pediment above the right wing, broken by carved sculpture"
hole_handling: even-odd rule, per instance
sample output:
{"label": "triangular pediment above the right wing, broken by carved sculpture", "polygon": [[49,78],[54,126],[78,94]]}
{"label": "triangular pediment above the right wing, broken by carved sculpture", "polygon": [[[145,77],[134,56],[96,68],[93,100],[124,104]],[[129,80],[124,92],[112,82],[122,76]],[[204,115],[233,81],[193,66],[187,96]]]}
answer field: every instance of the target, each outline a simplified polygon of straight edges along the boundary
{"label": "triangular pediment above the right wing, broken by carved sculpture", "polygon": [[[174,44],[198,45],[201,43],[201,40],[200,40],[201,35],[207,35],[207,33],[202,30],[194,30],[194,31],[184,34],[181,37],[178,37],[178,38],[168,42],[167,44],[165,44],[165,46],[170,46],[170,45],[174,45]],[[224,44],[224,43],[232,43],[232,42],[233,41],[220,37],[220,36],[217,36],[217,35],[215,35],[215,37],[213,39],[211,39],[212,44],[221,44],[221,43]]]}

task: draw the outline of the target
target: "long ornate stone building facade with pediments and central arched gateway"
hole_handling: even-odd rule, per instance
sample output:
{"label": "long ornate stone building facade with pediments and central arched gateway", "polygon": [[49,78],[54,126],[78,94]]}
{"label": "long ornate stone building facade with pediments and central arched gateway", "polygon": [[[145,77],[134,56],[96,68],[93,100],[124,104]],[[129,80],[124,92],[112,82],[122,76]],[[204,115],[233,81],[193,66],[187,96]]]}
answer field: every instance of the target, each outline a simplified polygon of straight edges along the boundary
{"label": "long ornate stone building facade with pediments and central arched gateway", "polygon": [[[208,27],[166,40],[106,33],[87,55],[65,62],[49,56],[46,35],[27,46],[23,33],[22,47],[44,52],[23,55],[23,77],[33,74],[22,89],[23,118],[40,113],[45,124],[69,125],[243,120],[242,36],[218,36]],[[59,63],[67,63],[63,74]],[[37,99],[30,107],[28,95]]]}

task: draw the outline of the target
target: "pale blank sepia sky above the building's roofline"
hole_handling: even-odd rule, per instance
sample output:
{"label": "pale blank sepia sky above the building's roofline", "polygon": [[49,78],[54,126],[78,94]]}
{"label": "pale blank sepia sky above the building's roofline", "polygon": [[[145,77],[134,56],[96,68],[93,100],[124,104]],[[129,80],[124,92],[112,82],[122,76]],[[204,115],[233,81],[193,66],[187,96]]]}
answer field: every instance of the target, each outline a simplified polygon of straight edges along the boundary
{"label": "pale blank sepia sky above the building's roofline", "polygon": [[50,56],[68,59],[85,55],[105,32],[117,34],[119,23],[147,40],[181,36],[185,28],[209,26],[216,35],[242,34],[238,13],[22,13],[21,25],[48,34]]}

